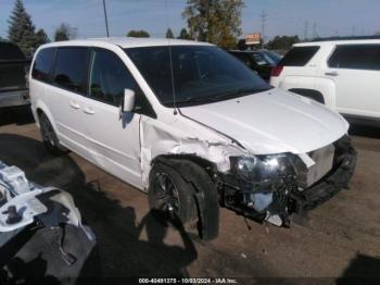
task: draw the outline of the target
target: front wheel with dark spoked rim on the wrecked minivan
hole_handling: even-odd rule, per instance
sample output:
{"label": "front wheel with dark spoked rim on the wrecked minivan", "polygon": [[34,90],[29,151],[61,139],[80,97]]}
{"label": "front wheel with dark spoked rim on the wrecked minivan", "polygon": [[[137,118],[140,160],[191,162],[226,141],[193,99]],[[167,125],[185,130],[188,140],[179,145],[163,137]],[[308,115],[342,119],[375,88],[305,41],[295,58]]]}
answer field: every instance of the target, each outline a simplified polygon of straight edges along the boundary
{"label": "front wheel with dark spoked rim on the wrecked minivan", "polygon": [[182,224],[197,220],[195,191],[174,169],[154,164],[149,177],[148,199],[151,210],[165,218],[176,215]]}

